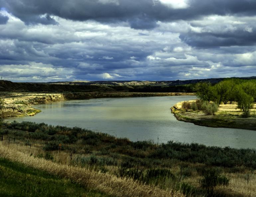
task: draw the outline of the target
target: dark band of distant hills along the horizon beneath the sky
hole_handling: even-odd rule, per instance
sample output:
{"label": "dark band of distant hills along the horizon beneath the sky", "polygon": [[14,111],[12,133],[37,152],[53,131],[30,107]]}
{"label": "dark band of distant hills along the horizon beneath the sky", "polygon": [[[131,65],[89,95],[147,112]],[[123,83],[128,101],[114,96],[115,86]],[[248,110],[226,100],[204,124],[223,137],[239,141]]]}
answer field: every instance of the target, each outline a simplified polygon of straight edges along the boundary
{"label": "dark band of distant hills along the horizon beneath the sky", "polygon": [[[256,79],[251,77],[232,77]],[[175,81],[59,81],[46,83],[12,82],[0,80],[4,92],[193,92],[197,82],[218,83],[226,78],[190,79]]]}

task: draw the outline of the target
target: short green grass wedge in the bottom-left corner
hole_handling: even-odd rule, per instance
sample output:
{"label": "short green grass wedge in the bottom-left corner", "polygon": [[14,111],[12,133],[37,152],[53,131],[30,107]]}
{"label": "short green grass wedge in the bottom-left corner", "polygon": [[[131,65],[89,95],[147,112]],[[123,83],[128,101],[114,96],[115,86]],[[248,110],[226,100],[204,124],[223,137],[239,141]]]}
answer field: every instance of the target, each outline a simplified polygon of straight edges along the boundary
{"label": "short green grass wedge in the bottom-left corner", "polygon": [[0,196],[107,196],[68,179],[0,158]]}

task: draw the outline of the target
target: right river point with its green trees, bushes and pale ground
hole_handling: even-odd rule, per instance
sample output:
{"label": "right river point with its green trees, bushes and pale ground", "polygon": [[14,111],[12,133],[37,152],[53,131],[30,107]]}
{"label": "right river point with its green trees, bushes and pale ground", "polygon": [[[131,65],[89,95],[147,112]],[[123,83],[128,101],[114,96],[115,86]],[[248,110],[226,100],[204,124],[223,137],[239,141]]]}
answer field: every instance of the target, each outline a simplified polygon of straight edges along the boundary
{"label": "right river point with its green trees, bushes and pale ground", "polygon": [[181,121],[203,126],[256,130],[256,80],[229,79],[215,85],[197,83],[200,100],[173,106]]}

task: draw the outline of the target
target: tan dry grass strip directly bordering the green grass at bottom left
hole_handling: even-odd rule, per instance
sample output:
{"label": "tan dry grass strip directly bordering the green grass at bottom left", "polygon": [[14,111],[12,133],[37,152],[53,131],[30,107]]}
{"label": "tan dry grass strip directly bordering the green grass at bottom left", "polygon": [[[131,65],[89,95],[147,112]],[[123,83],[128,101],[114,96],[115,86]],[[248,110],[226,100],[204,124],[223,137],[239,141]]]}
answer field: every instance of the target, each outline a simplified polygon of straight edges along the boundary
{"label": "tan dry grass strip directly bordering the green grass at bottom left", "polygon": [[[117,178],[110,174],[90,171],[85,168],[57,164],[42,158],[35,158],[28,153],[21,152],[20,147],[5,146],[1,143],[0,156],[11,161],[20,162],[28,167],[43,170],[51,174],[71,179],[88,188],[93,188],[114,196],[184,196],[179,192],[166,191],[152,185],[141,184],[128,178]],[[27,148],[27,147],[26,147]],[[24,151],[24,149],[23,149]]]}

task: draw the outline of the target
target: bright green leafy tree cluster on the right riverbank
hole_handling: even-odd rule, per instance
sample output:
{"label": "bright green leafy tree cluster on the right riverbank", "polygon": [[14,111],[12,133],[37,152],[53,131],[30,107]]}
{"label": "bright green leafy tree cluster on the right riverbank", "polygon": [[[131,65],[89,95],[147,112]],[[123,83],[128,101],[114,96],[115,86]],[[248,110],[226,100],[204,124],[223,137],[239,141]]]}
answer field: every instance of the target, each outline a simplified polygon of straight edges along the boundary
{"label": "bright green leafy tree cluster on the right riverbank", "polygon": [[195,86],[197,97],[202,101],[215,102],[218,106],[233,101],[242,109],[245,117],[249,116],[249,109],[256,101],[256,80],[227,79],[211,85],[209,82],[197,83]]}

